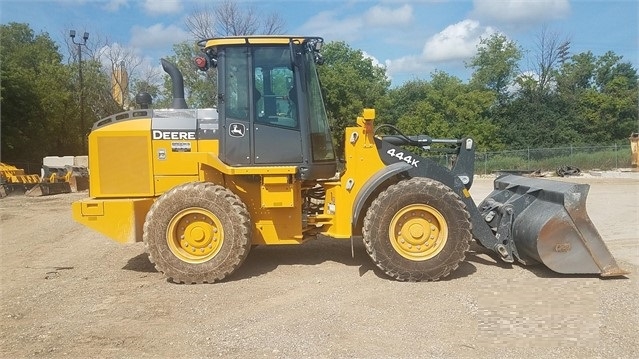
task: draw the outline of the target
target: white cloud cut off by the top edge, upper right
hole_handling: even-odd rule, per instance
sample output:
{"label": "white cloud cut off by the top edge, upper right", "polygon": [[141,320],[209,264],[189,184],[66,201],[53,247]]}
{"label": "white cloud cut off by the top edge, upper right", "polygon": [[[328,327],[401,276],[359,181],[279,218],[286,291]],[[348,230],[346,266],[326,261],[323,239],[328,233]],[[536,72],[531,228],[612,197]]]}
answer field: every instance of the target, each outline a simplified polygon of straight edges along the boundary
{"label": "white cloud cut off by the top edge, upper right", "polygon": [[570,12],[569,0],[473,0],[473,15],[510,25],[531,25],[561,19]]}

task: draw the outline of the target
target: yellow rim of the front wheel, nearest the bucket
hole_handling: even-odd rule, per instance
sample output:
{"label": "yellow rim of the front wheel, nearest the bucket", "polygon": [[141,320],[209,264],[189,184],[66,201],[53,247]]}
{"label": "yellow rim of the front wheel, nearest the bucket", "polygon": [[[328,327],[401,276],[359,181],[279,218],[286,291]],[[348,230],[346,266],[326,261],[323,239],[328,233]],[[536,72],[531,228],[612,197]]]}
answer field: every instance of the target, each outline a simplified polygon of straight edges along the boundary
{"label": "yellow rim of the front wheel, nearest the bucket", "polygon": [[388,234],[393,248],[402,257],[424,261],[439,254],[446,245],[448,224],[435,208],[413,204],[395,214]]}

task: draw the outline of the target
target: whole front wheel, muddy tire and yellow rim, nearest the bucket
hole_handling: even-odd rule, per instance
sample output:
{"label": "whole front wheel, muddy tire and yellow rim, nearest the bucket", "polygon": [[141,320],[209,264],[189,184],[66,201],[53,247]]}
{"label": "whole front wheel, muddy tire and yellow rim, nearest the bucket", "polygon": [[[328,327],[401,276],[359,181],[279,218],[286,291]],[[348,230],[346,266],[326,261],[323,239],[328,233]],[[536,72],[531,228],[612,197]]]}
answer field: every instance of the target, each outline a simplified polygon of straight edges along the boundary
{"label": "whole front wheel, muddy tire and yellow rim, nearest the bucket", "polygon": [[373,262],[399,281],[436,281],[465,259],[472,239],[470,214],[441,182],[411,178],[388,187],[371,203],[363,239]]}

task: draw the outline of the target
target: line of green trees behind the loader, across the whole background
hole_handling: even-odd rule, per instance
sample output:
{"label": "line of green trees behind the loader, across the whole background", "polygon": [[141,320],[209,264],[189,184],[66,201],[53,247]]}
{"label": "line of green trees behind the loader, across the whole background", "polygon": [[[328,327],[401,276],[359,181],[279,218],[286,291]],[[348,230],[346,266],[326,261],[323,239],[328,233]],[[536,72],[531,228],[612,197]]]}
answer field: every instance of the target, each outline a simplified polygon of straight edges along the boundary
{"label": "line of green trees behind the loader, across the whole background", "polygon": [[[284,32],[277,14],[257,16],[251,8],[238,6],[224,1],[200,8],[186,26],[199,39]],[[36,34],[28,24],[2,24],[0,38],[3,162],[39,163],[44,156],[86,154],[82,139],[92,123],[124,110],[139,92],[150,93],[156,108],[171,103],[168,76],[158,78],[140,69],[131,53],[96,40],[93,47],[80,48],[85,97],[80,111],[77,49],[72,43],[67,43],[65,62],[49,34]],[[199,52],[195,43],[174,45],[166,58],[183,72],[189,106],[216,106],[215,71],[203,73],[193,66]],[[524,72],[519,67],[524,49],[495,34],[482,39],[467,62],[472,69],[468,81],[435,71],[428,80],[391,87],[385,69],[361,50],[329,42],[319,72],[336,147],[341,150],[344,128],[354,124],[365,107],[377,109],[377,124],[395,125],[407,135],[471,136],[480,150],[627,141],[639,130],[637,69],[614,52],[569,54],[569,44],[542,29],[537,63]],[[107,53],[104,48],[109,48]],[[116,66],[129,73],[127,101],[113,95]],[[81,112],[85,128],[80,126]]]}

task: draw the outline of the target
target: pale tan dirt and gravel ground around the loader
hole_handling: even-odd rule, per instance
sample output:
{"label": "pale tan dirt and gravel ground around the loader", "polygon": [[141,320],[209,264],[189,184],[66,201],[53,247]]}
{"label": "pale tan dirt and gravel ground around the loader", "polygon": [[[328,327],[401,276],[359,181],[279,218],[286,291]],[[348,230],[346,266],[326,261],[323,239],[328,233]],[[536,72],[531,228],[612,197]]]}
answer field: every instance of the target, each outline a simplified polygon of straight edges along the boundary
{"label": "pale tan dirt and gravel ground around the loader", "polygon": [[[0,357],[637,358],[639,173],[590,183],[588,211],[622,279],[497,263],[400,283],[361,243],[257,247],[229,280],[176,285],[141,243],[75,223],[87,193],[0,199]],[[477,179],[476,200],[492,188]]]}

